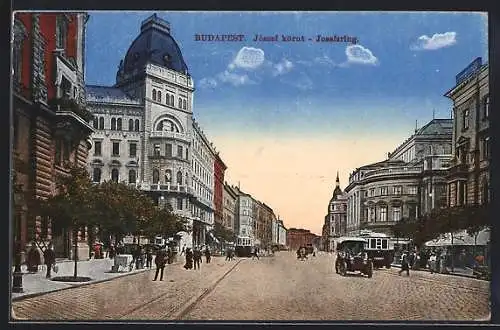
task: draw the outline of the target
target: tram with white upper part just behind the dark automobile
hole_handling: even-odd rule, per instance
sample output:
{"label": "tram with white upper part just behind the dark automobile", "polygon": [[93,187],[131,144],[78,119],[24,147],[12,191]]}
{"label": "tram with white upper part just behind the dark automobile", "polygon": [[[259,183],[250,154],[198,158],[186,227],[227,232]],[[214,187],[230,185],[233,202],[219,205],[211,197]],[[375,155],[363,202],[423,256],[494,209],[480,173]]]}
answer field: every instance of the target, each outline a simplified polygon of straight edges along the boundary
{"label": "tram with white upper part just behind the dark automobile", "polygon": [[373,260],[374,268],[391,268],[394,260],[394,243],[389,235],[364,230],[357,236],[366,240],[365,251]]}

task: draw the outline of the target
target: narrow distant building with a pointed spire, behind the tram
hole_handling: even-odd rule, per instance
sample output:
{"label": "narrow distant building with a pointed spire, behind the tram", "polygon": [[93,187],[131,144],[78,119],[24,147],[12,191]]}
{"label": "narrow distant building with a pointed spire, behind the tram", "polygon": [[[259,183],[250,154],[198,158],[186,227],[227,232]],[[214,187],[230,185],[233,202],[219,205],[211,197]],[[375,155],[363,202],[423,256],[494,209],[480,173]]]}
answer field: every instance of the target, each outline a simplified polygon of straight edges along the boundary
{"label": "narrow distant building with a pointed spire, behind the tram", "polygon": [[328,213],[323,226],[323,243],[326,251],[333,251],[334,238],[345,235],[347,199],[340,188],[339,173],[335,180],[335,189],[328,203]]}

